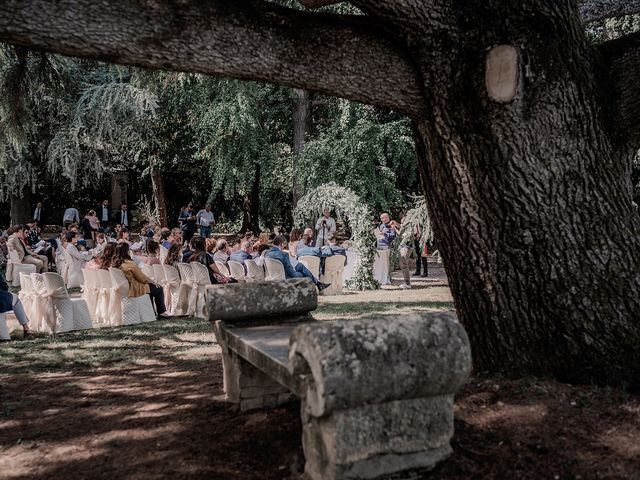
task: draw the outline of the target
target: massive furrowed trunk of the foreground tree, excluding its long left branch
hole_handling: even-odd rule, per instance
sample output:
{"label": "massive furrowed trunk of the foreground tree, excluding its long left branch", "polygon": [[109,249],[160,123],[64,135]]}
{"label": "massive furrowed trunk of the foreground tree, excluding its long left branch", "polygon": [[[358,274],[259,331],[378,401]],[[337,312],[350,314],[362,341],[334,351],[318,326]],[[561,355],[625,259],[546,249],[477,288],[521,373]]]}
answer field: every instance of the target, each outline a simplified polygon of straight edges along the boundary
{"label": "massive furrowed trunk of the foreground tree, excluding its long left branch", "polygon": [[[416,135],[434,230],[477,369],[637,387],[632,150],[616,143],[593,47],[569,6],[532,3],[475,4],[471,23],[456,21],[471,11],[450,16],[443,27],[457,48],[446,55],[415,46],[433,86]],[[518,51],[507,103],[485,81],[487,52],[500,43]]]}

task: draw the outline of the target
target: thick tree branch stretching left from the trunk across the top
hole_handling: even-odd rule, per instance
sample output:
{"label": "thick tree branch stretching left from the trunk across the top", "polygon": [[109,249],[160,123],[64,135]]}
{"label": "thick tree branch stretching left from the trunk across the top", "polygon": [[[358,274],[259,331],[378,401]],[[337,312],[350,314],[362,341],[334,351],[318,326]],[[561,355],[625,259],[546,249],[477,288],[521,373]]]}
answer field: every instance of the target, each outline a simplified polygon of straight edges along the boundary
{"label": "thick tree branch stretching left from the trunk across the top", "polygon": [[379,20],[260,0],[3,0],[0,40],[65,55],[263,80],[424,109],[421,83]]}

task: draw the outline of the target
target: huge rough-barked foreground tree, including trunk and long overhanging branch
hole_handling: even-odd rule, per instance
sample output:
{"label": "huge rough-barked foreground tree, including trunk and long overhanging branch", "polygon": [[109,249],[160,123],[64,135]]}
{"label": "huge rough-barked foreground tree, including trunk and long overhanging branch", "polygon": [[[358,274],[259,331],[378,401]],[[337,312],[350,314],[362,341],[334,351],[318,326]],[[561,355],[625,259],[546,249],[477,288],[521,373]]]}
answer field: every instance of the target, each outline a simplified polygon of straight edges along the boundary
{"label": "huge rough-barked foreground tree, including trunk and long overhanging branch", "polygon": [[640,222],[628,180],[640,49],[635,37],[595,47],[583,25],[638,2],[351,3],[365,15],[258,0],[5,0],[0,39],[407,114],[476,368],[640,387]]}

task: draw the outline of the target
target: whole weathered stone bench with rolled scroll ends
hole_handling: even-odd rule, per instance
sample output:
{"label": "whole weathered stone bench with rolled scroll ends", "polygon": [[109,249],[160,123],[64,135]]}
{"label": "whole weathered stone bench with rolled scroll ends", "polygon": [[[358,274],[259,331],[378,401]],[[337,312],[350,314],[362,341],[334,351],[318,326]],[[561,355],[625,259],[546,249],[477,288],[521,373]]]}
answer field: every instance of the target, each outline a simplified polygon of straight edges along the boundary
{"label": "whole weathered stone bench with rolled scroll ends", "polygon": [[301,400],[311,479],[431,468],[451,453],[453,394],[471,366],[450,313],[319,322],[306,279],[210,287],[224,390],[241,410]]}

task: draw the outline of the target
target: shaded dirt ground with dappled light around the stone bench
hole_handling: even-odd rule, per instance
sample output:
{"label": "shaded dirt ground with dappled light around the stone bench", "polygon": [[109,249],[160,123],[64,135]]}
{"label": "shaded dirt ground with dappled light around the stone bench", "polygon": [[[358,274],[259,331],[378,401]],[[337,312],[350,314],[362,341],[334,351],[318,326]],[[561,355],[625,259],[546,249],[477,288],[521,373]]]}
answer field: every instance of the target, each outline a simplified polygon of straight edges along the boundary
{"label": "shaded dirt ground with dappled light around the stone bench", "polygon": [[[321,299],[321,319],[450,309],[443,277]],[[640,479],[640,398],[545,379],[474,377],[454,453],[429,479]],[[224,402],[207,322],[169,320],[0,346],[2,479],[288,479],[303,470],[299,404]]]}

